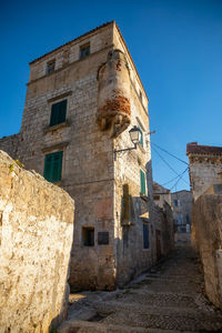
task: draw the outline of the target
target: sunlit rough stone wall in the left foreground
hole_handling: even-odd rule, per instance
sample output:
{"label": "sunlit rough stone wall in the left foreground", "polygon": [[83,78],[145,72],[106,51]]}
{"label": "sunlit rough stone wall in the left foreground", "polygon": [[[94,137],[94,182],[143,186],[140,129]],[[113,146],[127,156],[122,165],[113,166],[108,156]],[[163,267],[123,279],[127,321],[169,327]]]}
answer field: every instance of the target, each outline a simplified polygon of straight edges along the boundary
{"label": "sunlit rough stone wall in the left foreground", "polygon": [[64,319],[73,214],[68,193],[0,151],[0,332],[48,333]]}

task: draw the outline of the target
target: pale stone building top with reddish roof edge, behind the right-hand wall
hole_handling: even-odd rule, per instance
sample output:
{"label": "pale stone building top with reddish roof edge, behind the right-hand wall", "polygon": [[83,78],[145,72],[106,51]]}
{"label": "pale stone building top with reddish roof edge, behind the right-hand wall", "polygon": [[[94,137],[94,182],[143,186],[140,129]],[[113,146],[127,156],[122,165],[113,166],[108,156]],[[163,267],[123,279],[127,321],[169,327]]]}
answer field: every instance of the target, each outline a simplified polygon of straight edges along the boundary
{"label": "pale stone building top with reddish roof edge, behind the right-hand wall", "polygon": [[194,200],[212,184],[222,182],[222,147],[186,145],[189,157],[190,182]]}

